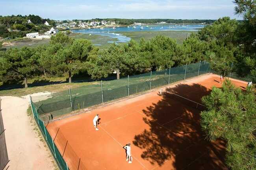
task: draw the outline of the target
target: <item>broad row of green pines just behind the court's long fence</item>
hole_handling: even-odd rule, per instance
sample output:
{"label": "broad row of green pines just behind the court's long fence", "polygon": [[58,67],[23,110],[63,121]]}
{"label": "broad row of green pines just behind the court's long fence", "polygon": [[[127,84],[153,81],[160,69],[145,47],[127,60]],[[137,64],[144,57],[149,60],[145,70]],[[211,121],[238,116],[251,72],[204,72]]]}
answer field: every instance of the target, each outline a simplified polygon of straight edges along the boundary
{"label": "broad row of green pines just behind the court's long fence", "polygon": [[120,75],[208,60],[212,68],[224,76],[236,71],[241,77],[250,76],[256,82],[256,38],[250,37],[249,43],[249,37],[244,37],[248,34],[246,29],[251,31],[246,22],[239,23],[224,17],[192,34],[181,45],[172,38],[157,36],[148,41],[114,43],[104,50],[99,50],[88,40],[74,40],[59,33],[46,46],[2,52],[0,70],[5,77],[2,80],[17,79],[19,75],[26,85],[27,78],[41,75],[68,74],[71,82],[74,73],[89,74],[93,79],[116,73],[119,79]]}

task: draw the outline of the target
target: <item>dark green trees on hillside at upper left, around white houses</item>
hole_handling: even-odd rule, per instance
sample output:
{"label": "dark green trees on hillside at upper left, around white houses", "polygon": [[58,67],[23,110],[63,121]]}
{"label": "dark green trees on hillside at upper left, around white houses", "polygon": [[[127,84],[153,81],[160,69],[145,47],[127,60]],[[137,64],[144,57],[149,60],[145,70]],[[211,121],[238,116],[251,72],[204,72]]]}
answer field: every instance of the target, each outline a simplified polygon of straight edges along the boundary
{"label": "dark green trees on hillside at upper left, around white houses", "polygon": [[[28,23],[28,20],[32,23]],[[44,33],[49,31],[50,28],[50,26],[44,25],[46,21],[51,26],[56,26],[56,22],[54,20],[50,20],[49,18],[43,19],[38,15],[0,16],[0,37],[16,38],[24,37],[30,32]]]}

